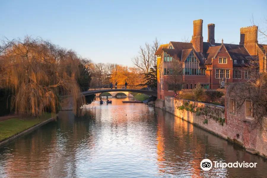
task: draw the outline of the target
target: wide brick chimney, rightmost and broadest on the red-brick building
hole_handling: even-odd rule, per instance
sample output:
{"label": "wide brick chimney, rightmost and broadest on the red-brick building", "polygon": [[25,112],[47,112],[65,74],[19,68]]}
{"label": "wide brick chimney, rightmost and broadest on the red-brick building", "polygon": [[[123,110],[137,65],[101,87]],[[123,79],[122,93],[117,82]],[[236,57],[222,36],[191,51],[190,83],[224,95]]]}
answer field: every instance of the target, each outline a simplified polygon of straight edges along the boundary
{"label": "wide brick chimney, rightmost and broadest on the red-brick building", "polygon": [[258,26],[240,28],[240,45],[244,45],[252,57],[256,57],[258,43]]}

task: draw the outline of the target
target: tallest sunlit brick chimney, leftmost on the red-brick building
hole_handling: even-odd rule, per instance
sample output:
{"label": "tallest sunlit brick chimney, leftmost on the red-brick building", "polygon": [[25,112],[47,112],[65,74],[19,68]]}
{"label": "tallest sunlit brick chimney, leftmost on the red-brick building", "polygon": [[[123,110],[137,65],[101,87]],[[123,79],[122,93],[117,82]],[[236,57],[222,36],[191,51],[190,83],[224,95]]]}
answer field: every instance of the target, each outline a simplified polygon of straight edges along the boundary
{"label": "tallest sunlit brick chimney, leftmost on the red-brick building", "polygon": [[203,53],[202,24],[202,19],[193,21],[193,47],[197,53]]}

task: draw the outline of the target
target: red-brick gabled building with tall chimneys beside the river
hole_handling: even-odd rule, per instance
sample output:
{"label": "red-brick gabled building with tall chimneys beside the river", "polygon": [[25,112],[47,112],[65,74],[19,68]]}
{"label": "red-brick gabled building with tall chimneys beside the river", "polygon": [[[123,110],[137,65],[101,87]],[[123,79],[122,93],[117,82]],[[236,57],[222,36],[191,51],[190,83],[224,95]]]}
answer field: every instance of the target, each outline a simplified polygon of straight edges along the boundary
{"label": "red-brick gabled building with tall chimneys beside the river", "polygon": [[206,89],[223,88],[225,83],[239,82],[249,77],[247,66],[258,60],[260,71],[267,71],[267,45],[258,44],[258,27],[240,28],[240,43],[215,43],[215,24],[208,24],[208,40],[203,42],[203,20],[193,21],[190,43],[169,42],[156,51],[158,67],[158,98],[173,96],[168,89],[174,59],[182,63],[182,84],[193,89],[199,82]]}

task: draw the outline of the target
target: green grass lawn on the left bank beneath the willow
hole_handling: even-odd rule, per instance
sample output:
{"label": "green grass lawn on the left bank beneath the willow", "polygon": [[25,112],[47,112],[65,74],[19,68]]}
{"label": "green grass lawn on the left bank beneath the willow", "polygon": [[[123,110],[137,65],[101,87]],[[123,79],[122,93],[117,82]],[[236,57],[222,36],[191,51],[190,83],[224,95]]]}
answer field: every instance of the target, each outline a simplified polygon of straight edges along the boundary
{"label": "green grass lawn on the left bank beneath the willow", "polygon": [[39,118],[34,117],[20,117],[11,118],[8,120],[0,121],[0,142],[8,139],[11,136],[19,134],[32,126],[39,124],[52,117],[51,113],[45,113]]}

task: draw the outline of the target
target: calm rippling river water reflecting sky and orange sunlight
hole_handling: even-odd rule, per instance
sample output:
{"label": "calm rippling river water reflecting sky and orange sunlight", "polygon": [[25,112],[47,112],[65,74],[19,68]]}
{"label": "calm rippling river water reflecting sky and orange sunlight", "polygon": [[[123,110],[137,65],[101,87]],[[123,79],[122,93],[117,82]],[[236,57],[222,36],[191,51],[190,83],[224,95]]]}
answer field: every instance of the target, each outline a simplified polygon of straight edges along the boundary
{"label": "calm rippling river water reflecting sky and orange sunlight", "polygon": [[[267,177],[267,161],[161,109],[85,106],[0,148],[0,177]],[[212,168],[212,161],[257,162],[257,168]]]}

